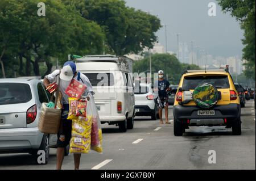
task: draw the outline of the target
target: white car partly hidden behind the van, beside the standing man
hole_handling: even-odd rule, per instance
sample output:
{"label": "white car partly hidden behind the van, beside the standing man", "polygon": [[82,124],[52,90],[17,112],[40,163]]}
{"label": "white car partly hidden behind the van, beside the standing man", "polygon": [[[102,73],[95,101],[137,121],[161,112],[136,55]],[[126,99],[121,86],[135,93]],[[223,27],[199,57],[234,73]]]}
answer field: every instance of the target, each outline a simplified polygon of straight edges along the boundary
{"label": "white car partly hidden behind the van, beside the standing man", "polygon": [[151,120],[158,118],[158,107],[156,106],[155,99],[157,96],[154,94],[154,87],[151,84],[140,83],[135,85],[135,115],[136,116],[151,116]]}

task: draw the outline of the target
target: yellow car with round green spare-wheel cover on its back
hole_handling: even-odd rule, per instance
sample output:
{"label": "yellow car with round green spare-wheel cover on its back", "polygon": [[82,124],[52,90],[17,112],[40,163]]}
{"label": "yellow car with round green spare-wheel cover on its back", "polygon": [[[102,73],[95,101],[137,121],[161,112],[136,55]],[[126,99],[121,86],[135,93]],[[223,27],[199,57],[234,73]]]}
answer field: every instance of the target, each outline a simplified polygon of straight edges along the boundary
{"label": "yellow car with round green spare-wheel cover on its back", "polygon": [[225,126],[241,134],[241,106],[226,70],[188,70],[180,79],[174,102],[174,135],[193,126]]}

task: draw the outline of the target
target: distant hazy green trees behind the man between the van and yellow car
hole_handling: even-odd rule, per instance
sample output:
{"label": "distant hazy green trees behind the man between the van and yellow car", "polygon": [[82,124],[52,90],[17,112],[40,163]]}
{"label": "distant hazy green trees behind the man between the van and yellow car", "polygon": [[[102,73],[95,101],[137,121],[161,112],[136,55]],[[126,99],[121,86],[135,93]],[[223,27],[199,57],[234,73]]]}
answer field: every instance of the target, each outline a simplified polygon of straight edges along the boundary
{"label": "distant hazy green trees behind the man between the van and yellow car", "polygon": [[[151,56],[152,71],[157,73],[163,70],[165,75],[168,74],[168,81],[172,84],[177,84],[180,81],[181,75],[185,70],[200,69],[197,65],[181,64],[177,57],[173,54],[153,54]],[[143,60],[134,62],[133,71],[142,73],[150,69],[150,60],[148,57]]]}

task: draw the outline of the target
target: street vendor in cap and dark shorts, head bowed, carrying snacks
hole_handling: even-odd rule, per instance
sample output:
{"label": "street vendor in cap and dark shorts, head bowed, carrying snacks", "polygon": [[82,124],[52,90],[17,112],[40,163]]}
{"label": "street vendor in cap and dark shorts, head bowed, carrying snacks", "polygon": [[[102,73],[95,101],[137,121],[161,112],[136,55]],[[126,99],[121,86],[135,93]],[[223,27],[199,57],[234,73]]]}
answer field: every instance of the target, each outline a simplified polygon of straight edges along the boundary
{"label": "street vendor in cap and dark shorts, head bowed, carrying snacks", "polygon": [[[57,165],[56,169],[60,170],[63,159],[64,159],[64,153],[65,148],[69,145],[69,141],[71,140],[71,132],[72,132],[72,120],[67,120],[68,112],[69,112],[69,96],[65,94],[65,90],[69,86],[69,83],[72,81],[72,79],[76,79],[76,81],[79,81],[81,83],[84,83],[87,87],[86,91],[84,92],[83,96],[87,96],[87,99],[89,99],[88,94],[92,94],[92,85],[90,84],[89,79],[84,75],[76,72],[76,64],[72,61],[67,61],[63,65],[63,69],[55,70],[51,74],[46,75],[44,77],[44,86],[48,86],[50,83],[56,82],[57,79],[60,78],[59,82],[59,90],[62,97],[62,104],[63,104],[63,110],[61,112],[61,124],[59,133],[57,134],[58,140],[57,140]],[[75,162],[75,169],[79,169],[80,165],[80,158],[81,154],[74,154],[74,162]]]}

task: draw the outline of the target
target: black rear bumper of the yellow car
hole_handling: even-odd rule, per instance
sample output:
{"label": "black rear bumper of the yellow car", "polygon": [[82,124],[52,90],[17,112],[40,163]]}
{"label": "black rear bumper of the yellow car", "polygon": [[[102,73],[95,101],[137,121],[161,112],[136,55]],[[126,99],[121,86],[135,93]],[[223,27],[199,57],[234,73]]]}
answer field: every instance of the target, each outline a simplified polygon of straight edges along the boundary
{"label": "black rear bumper of the yellow car", "polygon": [[[201,108],[197,106],[180,106],[176,105],[174,106],[174,117],[177,121],[182,121],[184,123],[187,123],[187,120],[209,120],[208,123],[207,121],[204,121],[204,124],[211,125],[212,121],[216,125],[218,124],[217,119],[226,119],[227,123],[233,122],[234,120],[237,119],[237,117],[240,116],[241,113],[241,106],[240,104],[228,104],[228,105],[223,105],[223,106],[215,106],[211,110],[215,111],[214,116],[198,116],[197,111],[202,110]],[[217,120],[217,121],[216,121]],[[221,121],[220,121],[220,124]]]}

